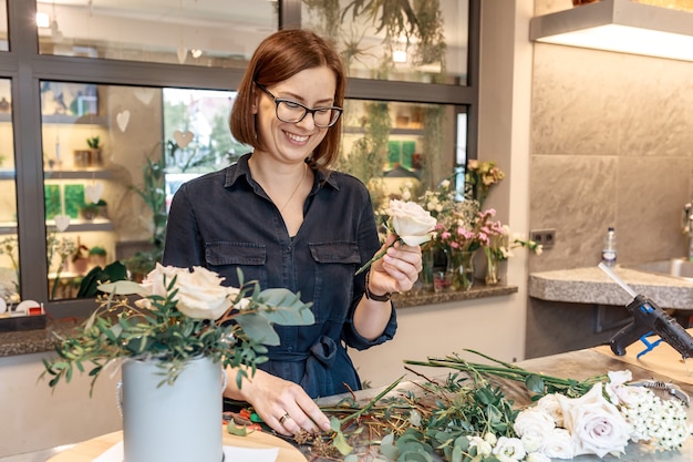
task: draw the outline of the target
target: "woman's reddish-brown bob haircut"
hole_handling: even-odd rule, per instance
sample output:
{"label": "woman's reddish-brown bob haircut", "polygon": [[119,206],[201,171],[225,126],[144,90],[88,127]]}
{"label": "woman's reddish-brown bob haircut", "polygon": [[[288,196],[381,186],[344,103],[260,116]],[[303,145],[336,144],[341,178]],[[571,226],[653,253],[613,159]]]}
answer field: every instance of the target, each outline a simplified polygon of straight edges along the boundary
{"label": "woman's reddish-brown bob haircut", "polygon": [[[256,82],[272,86],[301,71],[323,65],[334,72],[334,105],[342,107],[346,78],[340,55],[330,43],[306,29],[280,30],[266,38],[252,54],[240,81],[230,116],[234,137],[254,148],[262,147],[257,138],[252,113]],[[310,162],[314,166],[330,168],[339,156],[342,117],[327,130],[324,140],[316,147]]]}

